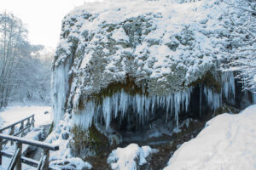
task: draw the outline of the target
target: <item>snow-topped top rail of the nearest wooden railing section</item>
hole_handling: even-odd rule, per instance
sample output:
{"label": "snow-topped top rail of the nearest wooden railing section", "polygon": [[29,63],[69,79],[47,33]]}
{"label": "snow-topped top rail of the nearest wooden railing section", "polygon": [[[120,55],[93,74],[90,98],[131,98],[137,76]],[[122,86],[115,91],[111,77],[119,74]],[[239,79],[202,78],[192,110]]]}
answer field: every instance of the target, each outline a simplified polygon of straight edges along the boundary
{"label": "snow-topped top rail of the nearest wooden railing section", "polygon": [[7,139],[7,140],[14,141],[14,142],[20,142],[22,144],[29,144],[29,145],[37,146],[37,147],[47,149],[47,150],[59,150],[59,146],[55,145],[55,144],[49,144],[49,143],[40,142],[40,141],[32,140],[32,139],[24,139],[24,138],[20,138],[20,137],[10,136],[7,134],[0,134],[0,139]]}

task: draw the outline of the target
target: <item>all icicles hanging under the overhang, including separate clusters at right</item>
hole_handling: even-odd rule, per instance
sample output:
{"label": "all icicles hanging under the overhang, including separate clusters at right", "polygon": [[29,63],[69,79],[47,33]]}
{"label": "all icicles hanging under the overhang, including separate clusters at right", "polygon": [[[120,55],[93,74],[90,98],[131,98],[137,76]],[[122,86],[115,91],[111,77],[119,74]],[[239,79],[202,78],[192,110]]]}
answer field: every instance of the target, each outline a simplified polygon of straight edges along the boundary
{"label": "all icicles hanging under the overhang, including separate clusters at right", "polygon": [[[200,101],[195,101],[195,104],[199,102],[201,106],[202,95],[205,95],[208,107],[212,111],[216,111],[222,104],[222,95],[226,99],[234,98],[235,80],[233,72],[224,72],[222,83],[223,89],[220,93],[216,93],[212,88],[201,86]],[[193,89],[188,88],[182,92],[164,96],[131,95],[122,90],[111,97],[105,97],[102,100],[102,105],[96,105],[93,100],[85,103],[84,110],[79,111],[80,114],[73,114],[73,123],[87,129],[94,119],[96,120],[101,116],[101,120],[104,120],[106,129],[108,129],[113,119],[119,116],[123,120],[127,117],[126,114],[129,113],[137,114],[137,123],[143,125],[148,122],[148,118],[157,109],[164,108],[166,110],[166,122],[168,117],[174,117],[178,127],[178,115],[181,111],[187,112],[189,110],[190,96]]]}

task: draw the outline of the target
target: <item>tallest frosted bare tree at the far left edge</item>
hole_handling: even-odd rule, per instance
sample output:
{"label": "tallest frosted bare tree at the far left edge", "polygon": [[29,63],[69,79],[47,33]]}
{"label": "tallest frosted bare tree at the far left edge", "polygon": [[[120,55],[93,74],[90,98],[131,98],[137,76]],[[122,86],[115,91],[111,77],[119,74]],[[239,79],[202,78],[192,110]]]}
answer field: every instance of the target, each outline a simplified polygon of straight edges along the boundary
{"label": "tallest frosted bare tree at the far left edge", "polygon": [[7,105],[9,94],[16,86],[15,68],[25,37],[21,20],[13,14],[0,14],[0,108]]}

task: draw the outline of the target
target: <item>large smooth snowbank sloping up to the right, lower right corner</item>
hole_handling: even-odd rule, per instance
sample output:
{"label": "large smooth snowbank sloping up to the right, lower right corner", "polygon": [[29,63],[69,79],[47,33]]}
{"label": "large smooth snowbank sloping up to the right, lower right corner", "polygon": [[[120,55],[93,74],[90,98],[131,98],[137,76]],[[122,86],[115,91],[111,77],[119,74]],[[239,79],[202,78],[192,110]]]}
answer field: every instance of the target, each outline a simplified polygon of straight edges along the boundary
{"label": "large smooth snowbank sloping up to the right, lower right corner", "polygon": [[165,170],[256,169],[256,105],[222,114],[175,151]]}

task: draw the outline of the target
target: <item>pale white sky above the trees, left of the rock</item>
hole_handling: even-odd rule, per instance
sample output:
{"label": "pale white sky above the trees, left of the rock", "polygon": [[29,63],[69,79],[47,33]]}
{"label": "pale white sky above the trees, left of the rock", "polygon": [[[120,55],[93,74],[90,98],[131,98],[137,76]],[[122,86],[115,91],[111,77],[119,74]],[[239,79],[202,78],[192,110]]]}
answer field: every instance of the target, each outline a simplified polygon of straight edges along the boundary
{"label": "pale white sky above the trees, left of the rock", "polygon": [[[88,1],[88,0],[87,0]],[[55,48],[61,33],[61,20],[85,0],[0,0],[0,13],[15,14],[26,25],[32,44]]]}

